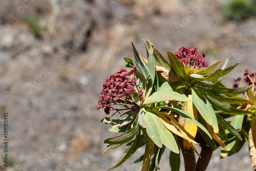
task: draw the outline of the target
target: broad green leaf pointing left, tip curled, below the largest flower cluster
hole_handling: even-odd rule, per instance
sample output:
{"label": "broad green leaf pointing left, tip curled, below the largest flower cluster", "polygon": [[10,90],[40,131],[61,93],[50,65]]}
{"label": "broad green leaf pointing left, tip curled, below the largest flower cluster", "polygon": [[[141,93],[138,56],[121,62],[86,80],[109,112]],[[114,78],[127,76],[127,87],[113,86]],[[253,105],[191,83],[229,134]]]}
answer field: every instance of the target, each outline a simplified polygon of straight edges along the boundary
{"label": "broad green leaf pointing left, tip curled, below the largest flower cluster", "polygon": [[108,144],[124,144],[126,142],[131,141],[136,133],[139,130],[139,125],[136,124],[131,130],[127,131],[126,133],[123,133],[122,135],[116,136],[116,137],[111,137],[107,138],[103,141],[103,143],[108,143]]}

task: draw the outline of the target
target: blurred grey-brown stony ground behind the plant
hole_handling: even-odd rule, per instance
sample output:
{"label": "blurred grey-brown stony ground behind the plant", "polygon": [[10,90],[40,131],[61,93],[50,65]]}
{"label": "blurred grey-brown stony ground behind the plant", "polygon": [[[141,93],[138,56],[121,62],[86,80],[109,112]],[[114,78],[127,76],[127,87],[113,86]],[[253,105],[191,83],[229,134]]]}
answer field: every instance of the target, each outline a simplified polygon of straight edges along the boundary
{"label": "blurred grey-brown stony ground behind the plant", "polygon": [[[95,106],[104,79],[124,67],[123,56],[133,56],[131,39],[142,56],[143,39],[150,39],[163,54],[194,46],[209,64],[240,61],[225,81],[229,87],[244,68],[252,72],[256,20],[224,21],[221,2],[0,0],[0,125],[8,112],[7,170],[98,171],[120,160],[123,148],[102,155],[103,139],[114,134],[99,122],[104,113]],[[28,16],[42,28],[39,38]],[[142,153],[116,170],[140,170],[141,163],[132,162]],[[207,170],[250,170],[246,147],[222,160],[219,153]],[[160,167],[168,170],[164,156]]]}

